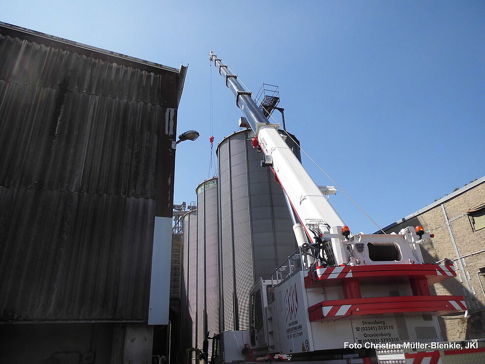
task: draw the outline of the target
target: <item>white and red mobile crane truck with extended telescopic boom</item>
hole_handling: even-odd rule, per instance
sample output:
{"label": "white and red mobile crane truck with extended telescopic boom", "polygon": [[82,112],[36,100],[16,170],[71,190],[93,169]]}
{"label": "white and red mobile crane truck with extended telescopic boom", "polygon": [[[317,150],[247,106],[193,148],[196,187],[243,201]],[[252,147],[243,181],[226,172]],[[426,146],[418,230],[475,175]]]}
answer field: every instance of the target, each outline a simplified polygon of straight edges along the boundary
{"label": "white and red mobile crane truck with extended telescopic boom", "polygon": [[450,259],[424,263],[420,245],[433,235],[421,226],[399,234],[351,233],[285,143],[280,125],[268,121],[228,65],[213,52],[209,60],[254,132],[261,166],[271,168],[284,191],[298,244],[270,280],[256,282],[249,332],[221,333],[213,363],[453,363],[464,353],[485,363],[483,342],[471,349],[442,342],[436,316],[466,315],[467,308],[462,296],[430,293],[430,285],[456,277]]}

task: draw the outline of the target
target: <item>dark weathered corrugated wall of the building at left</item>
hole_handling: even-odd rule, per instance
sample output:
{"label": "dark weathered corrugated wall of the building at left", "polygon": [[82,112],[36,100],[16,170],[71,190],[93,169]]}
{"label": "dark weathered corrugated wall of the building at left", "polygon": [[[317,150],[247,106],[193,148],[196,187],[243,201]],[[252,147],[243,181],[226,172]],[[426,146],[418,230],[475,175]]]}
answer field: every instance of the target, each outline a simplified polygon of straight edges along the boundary
{"label": "dark weathered corrugated wall of the building at left", "polygon": [[179,73],[46,37],[0,26],[0,321],[146,322]]}

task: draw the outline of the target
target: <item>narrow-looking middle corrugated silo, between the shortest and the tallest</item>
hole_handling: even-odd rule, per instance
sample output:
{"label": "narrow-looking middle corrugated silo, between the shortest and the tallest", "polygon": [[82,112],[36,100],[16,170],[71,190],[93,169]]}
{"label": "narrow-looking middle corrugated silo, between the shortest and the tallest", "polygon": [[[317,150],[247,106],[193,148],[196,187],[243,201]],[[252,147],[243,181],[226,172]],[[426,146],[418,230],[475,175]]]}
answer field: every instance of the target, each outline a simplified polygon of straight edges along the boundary
{"label": "narrow-looking middle corrugated silo, between the shortest and the tallest", "polygon": [[[198,215],[198,339],[204,340],[204,311],[209,336],[220,333],[219,325],[219,246],[217,222],[217,177],[202,182],[196,189]],[[203,212],[202,212],[203,211]],[[212,341],[209,340],[209,355]]]}

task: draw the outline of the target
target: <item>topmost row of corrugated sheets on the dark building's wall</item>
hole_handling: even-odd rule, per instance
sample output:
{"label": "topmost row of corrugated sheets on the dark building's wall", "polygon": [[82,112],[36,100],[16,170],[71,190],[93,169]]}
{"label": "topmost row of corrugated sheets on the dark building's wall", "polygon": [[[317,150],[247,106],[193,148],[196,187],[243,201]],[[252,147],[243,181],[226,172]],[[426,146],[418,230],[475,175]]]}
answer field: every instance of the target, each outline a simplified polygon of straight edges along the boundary
{"label": "topmost row of corrugated sheets on the dark building's wall", "polygon": [[162,100],[160,73],[5,35],[0,54],[1,80],[152,104]]}

